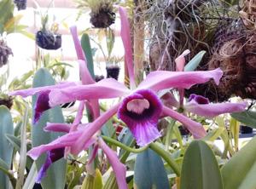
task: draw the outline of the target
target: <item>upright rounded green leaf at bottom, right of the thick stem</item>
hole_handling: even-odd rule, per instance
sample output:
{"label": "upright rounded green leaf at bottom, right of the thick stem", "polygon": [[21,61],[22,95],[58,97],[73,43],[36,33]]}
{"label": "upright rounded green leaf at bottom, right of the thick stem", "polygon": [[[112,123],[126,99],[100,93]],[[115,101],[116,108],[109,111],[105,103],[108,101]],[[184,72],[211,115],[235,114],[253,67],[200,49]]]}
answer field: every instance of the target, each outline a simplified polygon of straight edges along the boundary
{"label": "upright rounded green leaf at bottom, right of the thick stem", "polygon": [[185,152],[180,188],[223,188],[217,160],[211,148],[202,140],[192,141]]}

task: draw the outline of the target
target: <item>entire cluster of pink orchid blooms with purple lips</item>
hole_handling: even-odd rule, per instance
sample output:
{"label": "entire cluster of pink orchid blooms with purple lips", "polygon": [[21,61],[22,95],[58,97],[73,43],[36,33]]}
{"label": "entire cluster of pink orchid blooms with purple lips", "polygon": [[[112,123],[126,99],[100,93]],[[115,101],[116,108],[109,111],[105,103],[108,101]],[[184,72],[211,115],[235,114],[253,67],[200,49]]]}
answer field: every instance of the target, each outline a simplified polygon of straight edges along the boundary
{"label": "entire cluster of pink orchid blooms with purple lips", "polygon": [[[45,131],[64,132],[65,135],[51,141],[49,144],[35,146],[28,152],[28,155],[34,160],[43,153],[47,153],[46,161],[38,171],[37,182],[44,179],[49,166],[58,159],[67,158],[69,153],[78,155],[79,152],[93,146],[90,159],[86,165],[88,174],[94,174],[95,169],[91,166],[91,163],[96,158],[98,149],[101,148],[112,166],[119,188],[128,188],[125,180],[125,164],[119,161],[117,153],[113,152],[113,149],[105,143],[100,132],[104,123],[107,123],[115,114],[131,130],[137,146],[146,149],[154,144],[155,140],[162,137],[162,133],[157,127],[161,118],[172,117],[172,119],[182,123],[194,139],[203,139],[207,135],[207,130],[204,129],[201,123],[187,117],[186,112],[193,112],[204,117],[216,117],[226,112],[241,112],[246,107],[246,103],[243,102],[212,104],[207,98],[196,94],[190,95],[189,102],[183,104],[184,89],[189,89],[197,83],[206,83],[210,79],[218,84],[223,75],[219,68],[205,72],[183,72],[184,56],[188,54],[188,51],[185,51],[176,59],[177,71],[179,72],[151,72],[142,83],[137,85],[134,77],[130,26],[126,10],[120,7],[119,14],[121,18],[121,37],[125,48],[125,63],[130,77],[129,89],[113,78],[102,79],[96,83],[90,77],[76,27],[72,27],[71,33],[78,55],[81,82],[58,83],[52,86],[22,89],[11,93],[11,95],[22,97],[37,94],[33,115],[34,127],[37,127],[38,120],[45,111],[67,102],[79,100],[79,110],[73,123],[47,123],[44,127]],[[175,100],[172,94],[168,92],[160,96],[160,92],[166,89],[178,89],[180,102]],[[99,100],[111,98],[119,98],[119,103],[101,114]],[[93,117],[90,123],[82,123],[85,106],[90,110]],[[178,112],[177,110],[180,110],[181,107],[183,112]],[[155,146],[152,148],[155,148]],[[170,164],[172,167],[172,163]],[[172,169],[175,168],[172,167]]]}

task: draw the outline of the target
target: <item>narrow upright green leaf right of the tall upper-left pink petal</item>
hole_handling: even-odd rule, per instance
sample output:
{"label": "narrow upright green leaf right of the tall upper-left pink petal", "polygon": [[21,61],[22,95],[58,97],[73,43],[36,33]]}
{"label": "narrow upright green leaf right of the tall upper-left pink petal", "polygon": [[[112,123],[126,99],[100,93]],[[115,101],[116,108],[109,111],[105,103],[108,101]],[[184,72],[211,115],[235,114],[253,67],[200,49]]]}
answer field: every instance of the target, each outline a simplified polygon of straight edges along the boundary
{"label": "narrow upright green leaf right of the tall upper-left pink petal", "polygon": [[90,38],[87,33],[84,33],[81,38],[81,45],[84,50],[84,54],[87,60],[87,67],[90,72],[90,76],[95,78],[94,68],[93,68],[93,59],[92,52],[90,47]]}

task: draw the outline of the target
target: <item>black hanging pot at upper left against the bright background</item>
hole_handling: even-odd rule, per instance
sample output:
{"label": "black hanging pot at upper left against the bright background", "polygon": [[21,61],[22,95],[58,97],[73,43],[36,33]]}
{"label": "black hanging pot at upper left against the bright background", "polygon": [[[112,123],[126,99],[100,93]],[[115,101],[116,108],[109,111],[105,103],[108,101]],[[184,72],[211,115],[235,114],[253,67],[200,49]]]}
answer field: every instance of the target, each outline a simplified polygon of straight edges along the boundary
{"label": "black hanging pot at upper left against the bright background", "polygon": [[51,31],[38,31],[36,43],[42,49],[56,50],[61,48],[61,35]]}

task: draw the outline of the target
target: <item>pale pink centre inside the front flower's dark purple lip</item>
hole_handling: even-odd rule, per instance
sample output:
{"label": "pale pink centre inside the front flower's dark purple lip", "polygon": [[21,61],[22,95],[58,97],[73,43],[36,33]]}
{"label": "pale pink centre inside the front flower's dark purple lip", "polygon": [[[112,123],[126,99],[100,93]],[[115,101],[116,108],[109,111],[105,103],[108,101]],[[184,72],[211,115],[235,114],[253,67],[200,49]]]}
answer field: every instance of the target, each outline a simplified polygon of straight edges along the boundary
{"label": "pale pink centre inside the front flower's dark purple lip", "polygon": [[149,106],[149,102],[146,99],[133,99],[127,103],[126,108],[129,112],[141,114],[144,110],[148,109]]}

